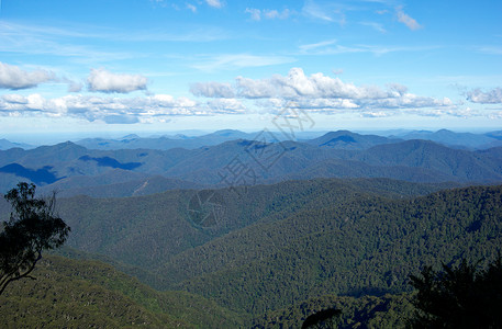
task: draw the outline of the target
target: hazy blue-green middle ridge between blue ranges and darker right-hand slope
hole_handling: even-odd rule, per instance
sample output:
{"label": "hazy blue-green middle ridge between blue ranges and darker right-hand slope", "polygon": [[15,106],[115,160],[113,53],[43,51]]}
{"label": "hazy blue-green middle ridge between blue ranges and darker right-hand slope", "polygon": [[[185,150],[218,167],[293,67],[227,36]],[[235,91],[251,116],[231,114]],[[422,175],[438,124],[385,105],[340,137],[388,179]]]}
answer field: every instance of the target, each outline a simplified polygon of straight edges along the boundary
{"label": "hazy blue-green middle ridge between blue ranges and darker right-hand slope", "polygon": [[67,246],[153,269],[176,254],[258,222],[276,222],[303,209],[338,204],[360,193],[390,197],[422,195],[443,185],[373,180],[320,179],[214,192],[217,223],[198,227],[189,208],[192,190],[129,198],[62,198],[59,213],[72,228]]}

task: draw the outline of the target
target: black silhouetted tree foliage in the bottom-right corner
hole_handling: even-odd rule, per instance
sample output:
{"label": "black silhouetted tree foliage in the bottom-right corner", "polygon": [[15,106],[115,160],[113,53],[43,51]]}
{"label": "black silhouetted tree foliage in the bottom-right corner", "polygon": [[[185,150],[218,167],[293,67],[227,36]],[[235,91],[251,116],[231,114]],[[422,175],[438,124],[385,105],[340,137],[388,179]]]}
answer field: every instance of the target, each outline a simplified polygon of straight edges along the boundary
{"label": "black silhouetted tree foliage in the bottom-right corner", "polygon": [[[479,263],[479,262],[478,262]],[[478,264],[477,263],[477,264]],[[411,275],[419,290],[412,328],[502,328],[502,261],[484,270],[466,260],[442,271],[426,266],[421,276]]]}

